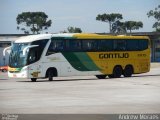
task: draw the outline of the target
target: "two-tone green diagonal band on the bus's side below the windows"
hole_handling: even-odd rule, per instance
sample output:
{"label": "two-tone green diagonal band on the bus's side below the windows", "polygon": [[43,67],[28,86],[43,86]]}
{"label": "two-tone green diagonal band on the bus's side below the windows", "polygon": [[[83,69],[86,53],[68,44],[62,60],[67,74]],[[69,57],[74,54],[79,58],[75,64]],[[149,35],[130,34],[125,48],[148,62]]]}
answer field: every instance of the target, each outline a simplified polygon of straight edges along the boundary
{"label": "two-tone green diagonal band on the bus's side below the windows", "polygon": [[85,52],[62,52],[67,61],[78,71],[97,71],[99,68]]}

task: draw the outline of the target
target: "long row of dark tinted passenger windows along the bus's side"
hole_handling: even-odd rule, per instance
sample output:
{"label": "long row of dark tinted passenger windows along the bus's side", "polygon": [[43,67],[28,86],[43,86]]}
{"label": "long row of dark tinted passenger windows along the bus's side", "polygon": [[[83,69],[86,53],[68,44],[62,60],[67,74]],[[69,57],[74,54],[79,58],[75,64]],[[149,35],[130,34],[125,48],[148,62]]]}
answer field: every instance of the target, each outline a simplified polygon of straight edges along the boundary
{"label": "long row of dark tinted passenger windows along the bus's side", "polygon": [[148,48],[147,40],[134,39],[52,39],[47,55],[55,52],[138,51]]}

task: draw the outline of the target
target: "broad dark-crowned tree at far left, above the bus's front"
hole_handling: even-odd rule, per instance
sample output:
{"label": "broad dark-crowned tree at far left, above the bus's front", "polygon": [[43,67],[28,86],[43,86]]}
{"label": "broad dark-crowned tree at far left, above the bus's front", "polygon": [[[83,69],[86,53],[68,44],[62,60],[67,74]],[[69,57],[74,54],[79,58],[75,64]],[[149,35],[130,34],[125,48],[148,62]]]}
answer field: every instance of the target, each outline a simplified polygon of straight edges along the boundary
{"label": "broad dark-crowned tree at far left, above the bus's front", "polygon": [[18,25],[23,27],[20,29],[18,26],[17,29],[24,31],[24,33],[29,33],[26,27],[30,28],[33,34],[40,33],[42,30],[47,30],[51,26],[52,21],[48,20],[48,15],[44,12],[23,12],[18,14],[16,20]]}

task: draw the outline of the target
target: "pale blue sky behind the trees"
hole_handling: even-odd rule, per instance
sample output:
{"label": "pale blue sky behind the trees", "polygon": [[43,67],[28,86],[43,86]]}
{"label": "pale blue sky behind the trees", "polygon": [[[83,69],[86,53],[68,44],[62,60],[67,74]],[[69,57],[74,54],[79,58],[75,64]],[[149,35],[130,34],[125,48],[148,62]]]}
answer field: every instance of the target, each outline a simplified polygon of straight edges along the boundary
{"label": "pale blue sky behind the trees", "polygon": [[[109,32],[109,25],[96,21],[103,13],[121,13],[122,21],[142,21],[140,32],[154,31],[155,19],[147,12],[160,4],[159,0],[0,0],[0,34],[18,34],[16,17],[22,12],[45,12],[52,20],[49,33],[79,27],[86,33]],[[134,31],[138,32],[138,31]]]}

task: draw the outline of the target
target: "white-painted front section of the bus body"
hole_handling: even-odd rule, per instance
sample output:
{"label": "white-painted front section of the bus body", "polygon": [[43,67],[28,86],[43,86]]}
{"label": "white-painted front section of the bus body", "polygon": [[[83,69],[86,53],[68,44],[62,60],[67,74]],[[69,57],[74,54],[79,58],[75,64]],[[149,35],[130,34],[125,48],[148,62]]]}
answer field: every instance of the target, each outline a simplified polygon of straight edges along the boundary
{"label": "white-painted front section of the bus body", "polygon": [[[24,52],[28,52],[30,48],[36,48],[34,45],[30,45],[33,42],[41,41],[41,40],[48,40],[46,45],[44,46],[44,49],[42,51],[42,54],[38,61],[33,62],[29,65],[14,65],[17,64],[17,61],[11,60],[12,54],[15,54],[15,51],[12,50],[10,54],[10,64],[9,64],[9,71],[8,76],[11,78],[28,78],[32,81],[36,81],[37,78],[46,78],[48,77],[47,70],[50,68],[52,69],[52,74],[54,76],[80,76],[80,75],[97,75],[102,74],[99,71],[78,71],[74,69],[71,64],[66,60],[66,58],[59,52],[46,56],[47,50],[51,44],[51,38],[52,37],[72,37],[73,34],[41,34],[41,35],[30,35],[25,36],[17,39],[14,44],[22,45],[21,50],[19,53],[20,57],[26,57],[28,55],[27,53],[24,54]],[[26,46],[24,44],[27,44]],[[12,49],[13,49],[12,46]],[[23,47],[24,46],[24,47]],[[32,47],[33,46],[33,47]],[[26,48],[28,48],[26,50]],[[15,58],[16,59],[16,58]],[[29,58],[28,58],[29,59]],[[26,60],[24,60],[26,61]],[[24,62],[20,61],[20,62]],[[13,62],[13,66],[11,63]],[[21,64],[21,63],[20,63]],[[51,80],[51,79],[50,79]]]}

